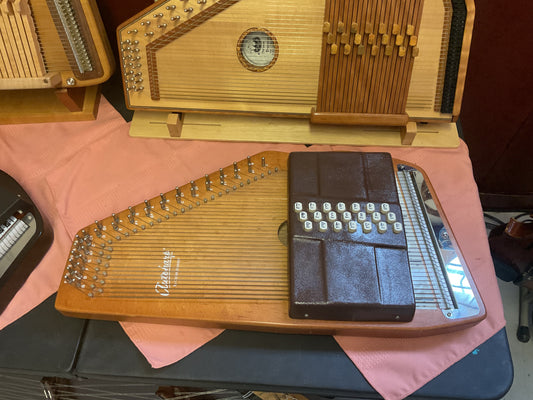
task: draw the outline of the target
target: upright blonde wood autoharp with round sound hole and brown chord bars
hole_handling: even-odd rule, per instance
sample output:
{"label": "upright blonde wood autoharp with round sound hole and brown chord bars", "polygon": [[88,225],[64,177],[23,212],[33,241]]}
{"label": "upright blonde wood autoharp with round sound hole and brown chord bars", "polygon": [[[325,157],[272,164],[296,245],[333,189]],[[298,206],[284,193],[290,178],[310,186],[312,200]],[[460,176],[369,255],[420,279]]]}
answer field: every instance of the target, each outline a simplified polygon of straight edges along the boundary
{"label": "upright blonde wood autoharp with round sound hole and brown chord bars", "polygon": [[319,124],[451,122],[473,0],[160,1],[118,28],[126,102]]}

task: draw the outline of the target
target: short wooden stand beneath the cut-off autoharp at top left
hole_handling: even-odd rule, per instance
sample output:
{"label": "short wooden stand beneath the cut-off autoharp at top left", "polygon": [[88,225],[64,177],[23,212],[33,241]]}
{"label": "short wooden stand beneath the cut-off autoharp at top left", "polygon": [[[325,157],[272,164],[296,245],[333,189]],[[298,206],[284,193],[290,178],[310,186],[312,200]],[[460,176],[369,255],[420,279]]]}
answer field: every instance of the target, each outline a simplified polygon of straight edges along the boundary
{"label": "short wooden stand beneath the cut-off autoharp at top left", "polygon": [[99,86],[2,91],[0,124],[90,121],[96,119]]}

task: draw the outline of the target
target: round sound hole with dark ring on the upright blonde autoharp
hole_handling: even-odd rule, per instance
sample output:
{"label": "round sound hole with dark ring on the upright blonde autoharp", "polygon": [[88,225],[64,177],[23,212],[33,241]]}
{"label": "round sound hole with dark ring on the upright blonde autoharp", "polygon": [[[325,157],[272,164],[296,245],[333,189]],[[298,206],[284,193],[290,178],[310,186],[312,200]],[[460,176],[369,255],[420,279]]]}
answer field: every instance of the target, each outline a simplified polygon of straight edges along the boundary
{"label": "round sound hole with dark ring on the upright blonde autoharp", "polygon": [[237,56],[248,70],[262,72],[271,68],[278,58],[278,42],[266,29],[251,28],[244,32],[237,43]]}

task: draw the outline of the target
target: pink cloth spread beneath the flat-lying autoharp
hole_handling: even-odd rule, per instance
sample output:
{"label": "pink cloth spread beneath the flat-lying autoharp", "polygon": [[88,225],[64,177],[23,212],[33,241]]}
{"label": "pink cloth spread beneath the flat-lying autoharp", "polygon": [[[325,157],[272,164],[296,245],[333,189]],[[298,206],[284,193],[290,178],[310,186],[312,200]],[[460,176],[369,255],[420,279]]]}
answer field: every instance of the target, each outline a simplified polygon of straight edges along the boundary
{"label": "pink cloth spread beneath the flat-lying autoharp", "polygon": [[[0,168],[26,188],[55,235],[49,253],[0,316],[0,329],[57,290],[74,234],[95,219],[260,151],[306,150],[299,145],[138,139],[130,138],[128,129],[105,99],[96,121],[0,127]],[[404,398],[505,325],[467,148],[462,143],[447,150],[312,150],[389,151],[422,167],[484,298],[487,319],[465,331],[417,339],[336,337],[384,398]],[[140,323],[122,327],[154,368],[180,360],[221,332]]]}

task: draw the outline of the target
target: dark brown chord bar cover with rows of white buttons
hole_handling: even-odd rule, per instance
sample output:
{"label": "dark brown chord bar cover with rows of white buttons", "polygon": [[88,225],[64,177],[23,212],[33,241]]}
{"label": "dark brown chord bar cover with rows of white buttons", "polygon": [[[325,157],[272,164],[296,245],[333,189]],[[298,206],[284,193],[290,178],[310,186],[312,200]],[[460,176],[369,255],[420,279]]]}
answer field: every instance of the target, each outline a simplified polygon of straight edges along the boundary
{"label": "dark brown chord bar cover with rows of white buttons", "polygon": [[413,318],[407,242],[390,154],[291,153],[289,203],[291,318]]}

